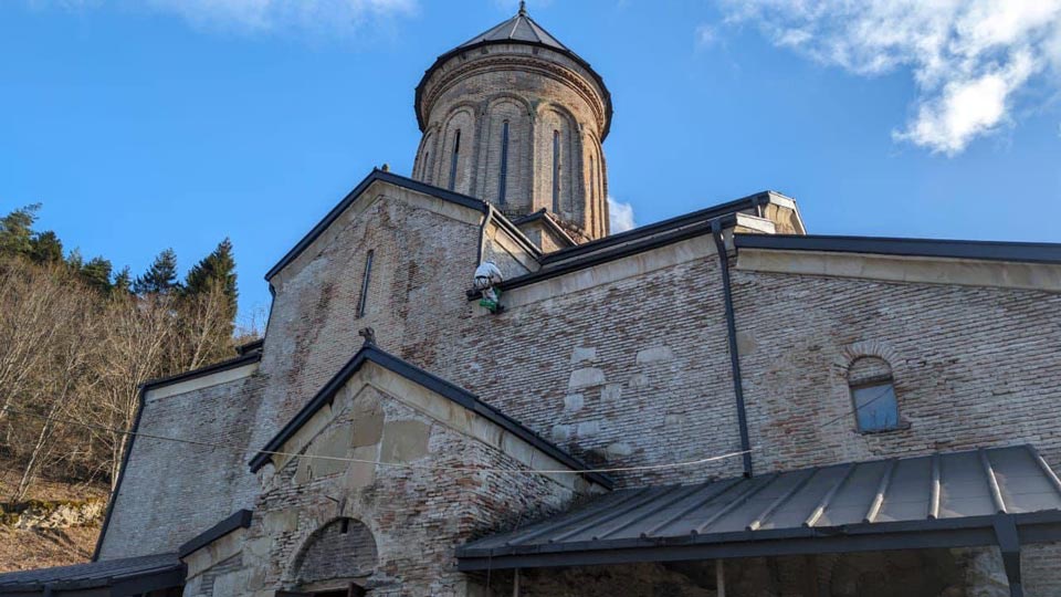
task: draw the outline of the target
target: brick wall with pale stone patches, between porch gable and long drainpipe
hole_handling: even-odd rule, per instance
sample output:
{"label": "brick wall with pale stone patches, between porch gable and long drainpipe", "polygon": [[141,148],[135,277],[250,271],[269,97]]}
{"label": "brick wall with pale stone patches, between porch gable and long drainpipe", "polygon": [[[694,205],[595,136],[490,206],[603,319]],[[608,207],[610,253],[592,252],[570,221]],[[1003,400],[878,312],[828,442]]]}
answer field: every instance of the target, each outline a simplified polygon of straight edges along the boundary
{"label": "brick wall with pale stone patches, between porch gable and long drainpipe", "polygon": [[[629,277],[497,316],[439,322],[459,327],[438,335],[450,349],[428,368],[593,463],[737,451],[717,256],[710,239],[662,251],[672,250],[700,255],[643,274],[630,260],[621,265]],[[618,476],[640,484],[739,472],[733,458]]]}

